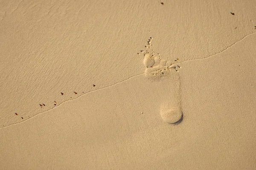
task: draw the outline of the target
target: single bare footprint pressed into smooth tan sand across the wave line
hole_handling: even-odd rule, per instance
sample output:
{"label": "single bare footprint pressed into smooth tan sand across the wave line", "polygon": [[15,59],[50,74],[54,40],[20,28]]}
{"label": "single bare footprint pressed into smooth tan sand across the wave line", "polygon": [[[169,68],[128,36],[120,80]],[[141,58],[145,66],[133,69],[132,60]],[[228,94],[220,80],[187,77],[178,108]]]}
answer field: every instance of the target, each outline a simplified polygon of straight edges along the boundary
{"label": "single bare footprint pressed into smooth tan sand across the wave line", "polygon": [[[148,45],[151,43],[151,38],[148,40]],[[143,51],[144,52],[144,51]],[[180,124],[183,121],[183,112],[181,108],[180,96],[180,75],[178,74],[179,65],[172,65],[161,59],[160,54],[152,49],[144,52],[145,76],[153,81],[160,81],[163,77],[167,77],[168,83],[172,83],[170,93],[163,101],[160,108],[160,115],[164,122],[172,125]],[[166,80],[166,79],[163,79]],[[167,93],[167,92],[166,92]]]}

